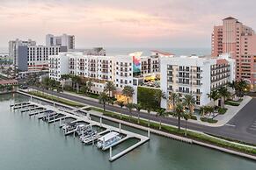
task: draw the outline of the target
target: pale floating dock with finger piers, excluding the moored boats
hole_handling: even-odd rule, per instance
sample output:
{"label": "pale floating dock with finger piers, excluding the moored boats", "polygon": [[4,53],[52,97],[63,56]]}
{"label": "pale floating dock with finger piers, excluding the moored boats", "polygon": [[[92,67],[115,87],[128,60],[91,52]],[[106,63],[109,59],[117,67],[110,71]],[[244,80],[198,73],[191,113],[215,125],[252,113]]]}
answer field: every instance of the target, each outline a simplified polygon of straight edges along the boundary
{"label": "pale floating dock with finger piers, excluding the moored boats", "polygon": [[[86,106],[88,107],[88,106]],[[36,116],[36,115],[40,115],[40,114],[44,114],[43,116],[38,117],[39,119],[46,117],[46,119],[48,120],[48,124],[50,123],[54,123],[59,121],[60,122],[60,127],[62,127],[62,120],[66,120],[68,118],[70,119],[74,119],[74,121],[70,121],[70,123],[76,123],[76,122],[84,122],[85,124],[91,124],[91,126],[98,126],[98,127],[102,127],[105,129],[105,131],[101,131],[99,132],[99,135],[104,134],[108,131],[116,131],[121,133],[122,135],[124,135],[124,138],[121,138],[121,140],[119,140],[118,142],[114,143],[111,146],[106,147],[104,150],[108,150],[109,149],[109,161],[113,161],[116,159],[121,158],[122,156],[124,156],[125,154],[127,154],[128,152],[131,152],[132,150],[134,150],[136,147],[138,147],[139,145],[143,145],[143,143],[147,142],[150,140],[149,136],[150,136],[150,131],[148,131],[148,137],[137,134],[135,132],[132,131],[126,131],[126,130],[122,130],[121,129],[121,124],[119,124],[119,128],[117,127],[113,127],[107,124],[102,124],[102,118],[100,118],[100,122],[96,122],[96,121],[92,121],[91,117],[89,117],[89,115],[84,116],[82,114],[78,114],[77,110],[80,109],[74,109],[74,110],[63,110],[49,106],[49,105],[42,105],[40,103],[34,103],[34,102],[25,102],[25,103],[15,103],[15,104],[11,104],[11,108],[13,108],[14,110],[20,110],[22,112],[31,112],[32,110],[36,110],[33,113],[29,113],[29,116]],[[51,113],[48,113],[51,112]],[[45,114],[48,113],[48,115],[50,116],[46,116]],[[57,117],[56,116],[61,115],[62,117]],[[69,134],[74,133],[76,130],[74,131],[69,131]],[[68,135],[68,134],[65,134]],[[122,142],[124,142],[125,140],[127,140],[128,138],[137,138],[139,139],[139,142],[135,143],[135,145],[131,145],[128,148],[126,148],[125,150],[112,155],[112,147],[115,145],[120,145]],[[93,143],[92,143],[93,144]]]}

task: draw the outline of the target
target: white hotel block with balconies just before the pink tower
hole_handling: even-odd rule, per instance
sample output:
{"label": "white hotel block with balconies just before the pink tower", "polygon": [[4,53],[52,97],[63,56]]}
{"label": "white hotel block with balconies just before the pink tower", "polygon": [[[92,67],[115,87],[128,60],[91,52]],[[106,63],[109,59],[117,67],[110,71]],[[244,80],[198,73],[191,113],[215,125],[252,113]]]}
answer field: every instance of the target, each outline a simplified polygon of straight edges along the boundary
{"label": "white hotel block with balconies just before the pink tower", "polygon": [[[180,56],[161,58],[161,89],[167,98],[172,92],[181,96],[193,95],[196,105],[210,103],[208,94],[213,89],[226,85],[235,79],[235,60],[229,54],[217,58]],[[169,109],[167,100],[162,100],[161,106]]]}

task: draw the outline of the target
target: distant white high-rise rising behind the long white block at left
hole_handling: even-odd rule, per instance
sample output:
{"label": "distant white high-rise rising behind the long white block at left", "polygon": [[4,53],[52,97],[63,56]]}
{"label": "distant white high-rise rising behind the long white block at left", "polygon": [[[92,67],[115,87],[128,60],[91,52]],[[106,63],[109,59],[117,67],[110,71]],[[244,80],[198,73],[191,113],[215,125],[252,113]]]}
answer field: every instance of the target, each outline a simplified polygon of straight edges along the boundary
{"label": "distant white high-rise rising behind the long white block at left", "polygon": [[75,49],[75,36],[62,34],[61,36],[55,36],[47,34],[46,36],[47,46],[67,46],[69,49]]}

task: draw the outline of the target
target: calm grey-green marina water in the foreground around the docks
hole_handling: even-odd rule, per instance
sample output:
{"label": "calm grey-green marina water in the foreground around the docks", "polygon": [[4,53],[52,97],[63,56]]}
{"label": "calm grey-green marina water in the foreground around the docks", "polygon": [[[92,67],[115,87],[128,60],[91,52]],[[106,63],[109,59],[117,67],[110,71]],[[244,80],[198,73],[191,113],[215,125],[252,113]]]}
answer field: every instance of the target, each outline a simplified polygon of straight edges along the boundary
{"label": "calm grey-green marina water in the foreground around the docks", "polygon": [[[256,167],[256,162],[249,159],[153,134],[150,142],[111,163],[108,152],[82,145],[72,136],[64,137],[58,126],[11,112],[11,100],[18,103],[28,98],[18,94],[0,96],[1,170],[254,170]],[[130,140],[113,152],[133,142]]]}

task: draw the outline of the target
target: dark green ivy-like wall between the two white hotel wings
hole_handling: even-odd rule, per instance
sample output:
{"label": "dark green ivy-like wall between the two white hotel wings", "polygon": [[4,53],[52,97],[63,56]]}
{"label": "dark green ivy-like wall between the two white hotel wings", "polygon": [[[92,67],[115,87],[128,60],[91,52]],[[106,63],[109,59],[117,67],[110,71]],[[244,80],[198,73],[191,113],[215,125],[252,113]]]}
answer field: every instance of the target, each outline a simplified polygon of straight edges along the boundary
{"label": "dark green ivy-like wall between the two white hotel wings", "polygon": [[160,89],[138,87],[137,93],[137,103],[141,103],[143,109],[146,110],[147,106],[151,106],[153,110],[160,108],[160,102],[156,100],[157,93],[161,93]]}

